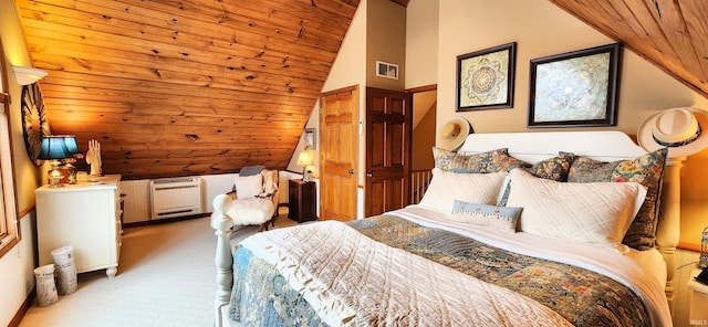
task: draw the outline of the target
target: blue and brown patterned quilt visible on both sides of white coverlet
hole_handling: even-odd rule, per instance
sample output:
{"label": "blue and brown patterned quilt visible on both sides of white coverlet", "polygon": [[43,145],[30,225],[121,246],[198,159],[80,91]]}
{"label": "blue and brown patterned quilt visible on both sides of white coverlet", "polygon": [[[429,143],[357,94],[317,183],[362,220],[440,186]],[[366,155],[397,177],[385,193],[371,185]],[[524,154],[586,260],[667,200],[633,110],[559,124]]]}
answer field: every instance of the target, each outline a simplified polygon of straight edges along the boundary
{"label": "blue and brown patterned quilt visible on both sides of white coverlet", "polygon": [[[514,291],[575,326],[650,326],[627,287],[572,265],[508,252],[394,215],[347,223],[368,238]],[[229,315],[246,326],[326,326],[301,294],[264,261],[239,247]]]}

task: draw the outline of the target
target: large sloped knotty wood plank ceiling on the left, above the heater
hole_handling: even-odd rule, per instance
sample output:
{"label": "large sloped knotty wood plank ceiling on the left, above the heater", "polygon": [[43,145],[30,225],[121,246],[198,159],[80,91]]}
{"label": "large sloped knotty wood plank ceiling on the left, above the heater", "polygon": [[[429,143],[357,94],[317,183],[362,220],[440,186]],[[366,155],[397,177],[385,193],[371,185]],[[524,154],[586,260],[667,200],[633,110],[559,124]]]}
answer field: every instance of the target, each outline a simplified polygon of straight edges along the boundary
{"label": "large sloped knotty wood plank ceiling on the left, above the heater", "polygon": [[285,169],[358,1],[17,3],[52,134],[144,179]]}

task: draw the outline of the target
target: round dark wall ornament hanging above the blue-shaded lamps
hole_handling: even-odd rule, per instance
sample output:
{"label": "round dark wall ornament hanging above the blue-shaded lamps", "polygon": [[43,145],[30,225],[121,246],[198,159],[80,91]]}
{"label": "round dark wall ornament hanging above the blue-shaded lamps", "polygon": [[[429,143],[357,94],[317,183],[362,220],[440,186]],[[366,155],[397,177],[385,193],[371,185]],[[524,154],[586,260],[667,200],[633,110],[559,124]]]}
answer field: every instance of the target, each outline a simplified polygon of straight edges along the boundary
{"label": "round dark wall ornament hanging above the blue-shaded lamps", "polygon": [[42,165],[37,157],[40,154],[42,138],[51,135],[49,122],[46,119],[46,108],[44,98],[40,91],[39,83],[22,86],[22,135],[24,136],[24,147],[30,159],[38,167]]}

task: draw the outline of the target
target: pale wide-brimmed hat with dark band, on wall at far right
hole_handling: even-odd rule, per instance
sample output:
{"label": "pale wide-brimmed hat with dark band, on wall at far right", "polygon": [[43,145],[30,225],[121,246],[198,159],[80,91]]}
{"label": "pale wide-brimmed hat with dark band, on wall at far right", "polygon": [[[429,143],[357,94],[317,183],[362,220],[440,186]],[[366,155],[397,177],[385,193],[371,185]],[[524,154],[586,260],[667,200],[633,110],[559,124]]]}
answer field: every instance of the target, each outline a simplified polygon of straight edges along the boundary
{"label": "pale wide-brimmed hat with dark band, on wall at far right", "polygon": [[657,113],[639,126],[637,141],[647,151],[668,148],[669,158],[699,152],[708,147],[708,112],[680,107]]}

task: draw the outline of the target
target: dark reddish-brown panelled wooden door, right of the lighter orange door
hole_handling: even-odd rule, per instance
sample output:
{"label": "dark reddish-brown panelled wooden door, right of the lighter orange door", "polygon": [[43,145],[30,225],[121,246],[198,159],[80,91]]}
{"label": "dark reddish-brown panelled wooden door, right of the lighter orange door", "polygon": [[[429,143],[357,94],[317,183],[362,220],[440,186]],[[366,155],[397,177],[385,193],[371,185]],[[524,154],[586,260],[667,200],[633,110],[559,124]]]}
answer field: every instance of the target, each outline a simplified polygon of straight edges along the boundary
{"label": "dark reddish-brown panelled wooden door, right of the lighter orange door", "polygon": [[364,217],[408,205],[410,94],[366,88],[366,177]]}

